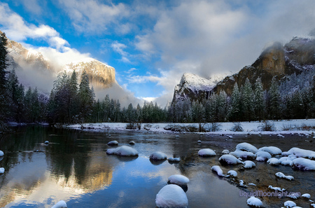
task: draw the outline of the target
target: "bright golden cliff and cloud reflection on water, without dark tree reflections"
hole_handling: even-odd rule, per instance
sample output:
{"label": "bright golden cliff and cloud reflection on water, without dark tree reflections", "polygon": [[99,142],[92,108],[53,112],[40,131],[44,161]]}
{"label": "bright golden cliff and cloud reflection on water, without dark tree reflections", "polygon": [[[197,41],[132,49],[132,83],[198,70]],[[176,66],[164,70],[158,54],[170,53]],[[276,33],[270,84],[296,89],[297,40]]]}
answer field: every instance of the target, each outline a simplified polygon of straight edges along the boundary
{"label": "bright golden cliff and cloud reflection on water, without dark tree reflections", "polygon": [[71,174],[52,174],[43,153],[34,153],[32,161],[21,160],[15,167],[6,172],[1,178],[0,207],[12,202],[19,204],[43,203],[44,207],[51,207],[46,200],[50,197],[54,201],[69,200],[79,197],[83,193],[92,193],[95,190],[111,185],[113,178],[113,164],[111,160],[104,160],[105,155],[90,153],[85,175],[78,175],[74,169],[74,160],[71,164]]}

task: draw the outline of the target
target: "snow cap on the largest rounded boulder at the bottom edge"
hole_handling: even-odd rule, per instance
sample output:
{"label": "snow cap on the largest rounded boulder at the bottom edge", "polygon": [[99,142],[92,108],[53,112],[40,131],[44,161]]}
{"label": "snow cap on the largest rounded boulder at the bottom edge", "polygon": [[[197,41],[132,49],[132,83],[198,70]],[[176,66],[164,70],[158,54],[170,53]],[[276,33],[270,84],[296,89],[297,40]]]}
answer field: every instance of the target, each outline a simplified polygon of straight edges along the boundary
{"label": "snow cap on the largest rounded boulder at the bottom edge", "polygon": [[156,195],[157,207],[188,207],[188,198],[180,186],[169,184]]}

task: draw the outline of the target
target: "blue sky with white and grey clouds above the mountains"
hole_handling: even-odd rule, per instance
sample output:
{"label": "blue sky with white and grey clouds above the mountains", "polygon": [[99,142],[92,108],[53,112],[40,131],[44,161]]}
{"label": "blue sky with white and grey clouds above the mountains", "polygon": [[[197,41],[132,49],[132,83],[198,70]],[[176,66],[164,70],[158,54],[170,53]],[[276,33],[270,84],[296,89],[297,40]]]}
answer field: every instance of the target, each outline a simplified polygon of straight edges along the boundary
{"label": "blue sky with white and grey clouds above the mountains", "polygon": [[183,73],[235,74],[269,43],[307,36],[314,23],[314,0],[0,1],[9,39],[60,64],[109,64],[127,92],[161,106]]}

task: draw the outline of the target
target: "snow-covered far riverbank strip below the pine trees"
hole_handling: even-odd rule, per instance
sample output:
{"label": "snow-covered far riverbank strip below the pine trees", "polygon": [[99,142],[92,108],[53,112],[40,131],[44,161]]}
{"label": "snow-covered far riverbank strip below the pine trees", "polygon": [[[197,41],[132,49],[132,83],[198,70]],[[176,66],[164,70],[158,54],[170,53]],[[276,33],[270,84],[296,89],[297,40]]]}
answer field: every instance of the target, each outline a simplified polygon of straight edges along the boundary
{"label": "snow-covered far riverbank strip below the pine trees", "polygon": [[[233,131],[235,123],[225,122],[216,123],[216,132],[203,132],[200,134],[314,134],[315,132],[315,119],[301,119],[301,120],[269,120],[267,123],[272,126],[272,131],[262,130],[263,122],[240,122],[239,126],[242,128],[241,132]],[[198,127],[197,123],[142,123],[141,130],[132,130],[139,132],[161,132],[172,133],[171,130],[165,130],[165,127],[170,125],[178,125],[181,127],[194,126]],[[209,127],[211,124],[206,124],[204,127]],[[84,130],[123,130],[126,129],[127,123],[85,123],[83,124]],[[81,125],[68,125],[71,129],[81,129]],[[178,133],[178,132],[174,132]]]}

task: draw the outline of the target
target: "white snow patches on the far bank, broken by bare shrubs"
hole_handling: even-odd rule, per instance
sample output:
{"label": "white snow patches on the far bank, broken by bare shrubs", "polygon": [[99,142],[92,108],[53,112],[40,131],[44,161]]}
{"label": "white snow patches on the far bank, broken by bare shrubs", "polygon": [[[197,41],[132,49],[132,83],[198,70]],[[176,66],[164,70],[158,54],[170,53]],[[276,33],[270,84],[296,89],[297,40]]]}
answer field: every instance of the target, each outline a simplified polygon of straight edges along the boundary
{"label": "white snow patches on the far bank, broken by bare shrubs", "polygon": [[[315,126],[315,119],[298,119],[298,120],[268,120],[268,122],[271,125],[274,125],[274,132],[264,131],[262,132],[260,130],[260,125],[262,123],[258,121],[251,121],[251,122],[241,122],[241,127],[243,128],[243,132],[233,132],[231,129],[234,126],[234,123],[232,122],[224,122],[224,123],[218,123],[220,125],[220,131],[218,132],[206,132],[203,134],[311,134],[312,130],[283,130],[283,126],[295,126],[300,123],[303,123],[307,126]],[[144,123],[143,125],[146,125]],[[170,130],[165,130],[164,127],[169,125],[169,123],[150,123],[153,127],[150,129],[151,132],[172,132]],[[174,125],[182,125],[182,126],[188,126],[188,125],[195,125],[197,126],[197,123],[174,123]],[[81,130],[81,125],[67,125],[66,127]],[[83,127],[85,128],[85,131],[95,131],[95,130],[123,130],[123,131],[131,131],[126,130],[126,123],[84,123]],[[89,129],[87,129],[87,127]],[[147,132],[147,130],[138,130]],[[172,132],[173,133],[173,132]],[[281,139],[281,138],[279,138]]]}

